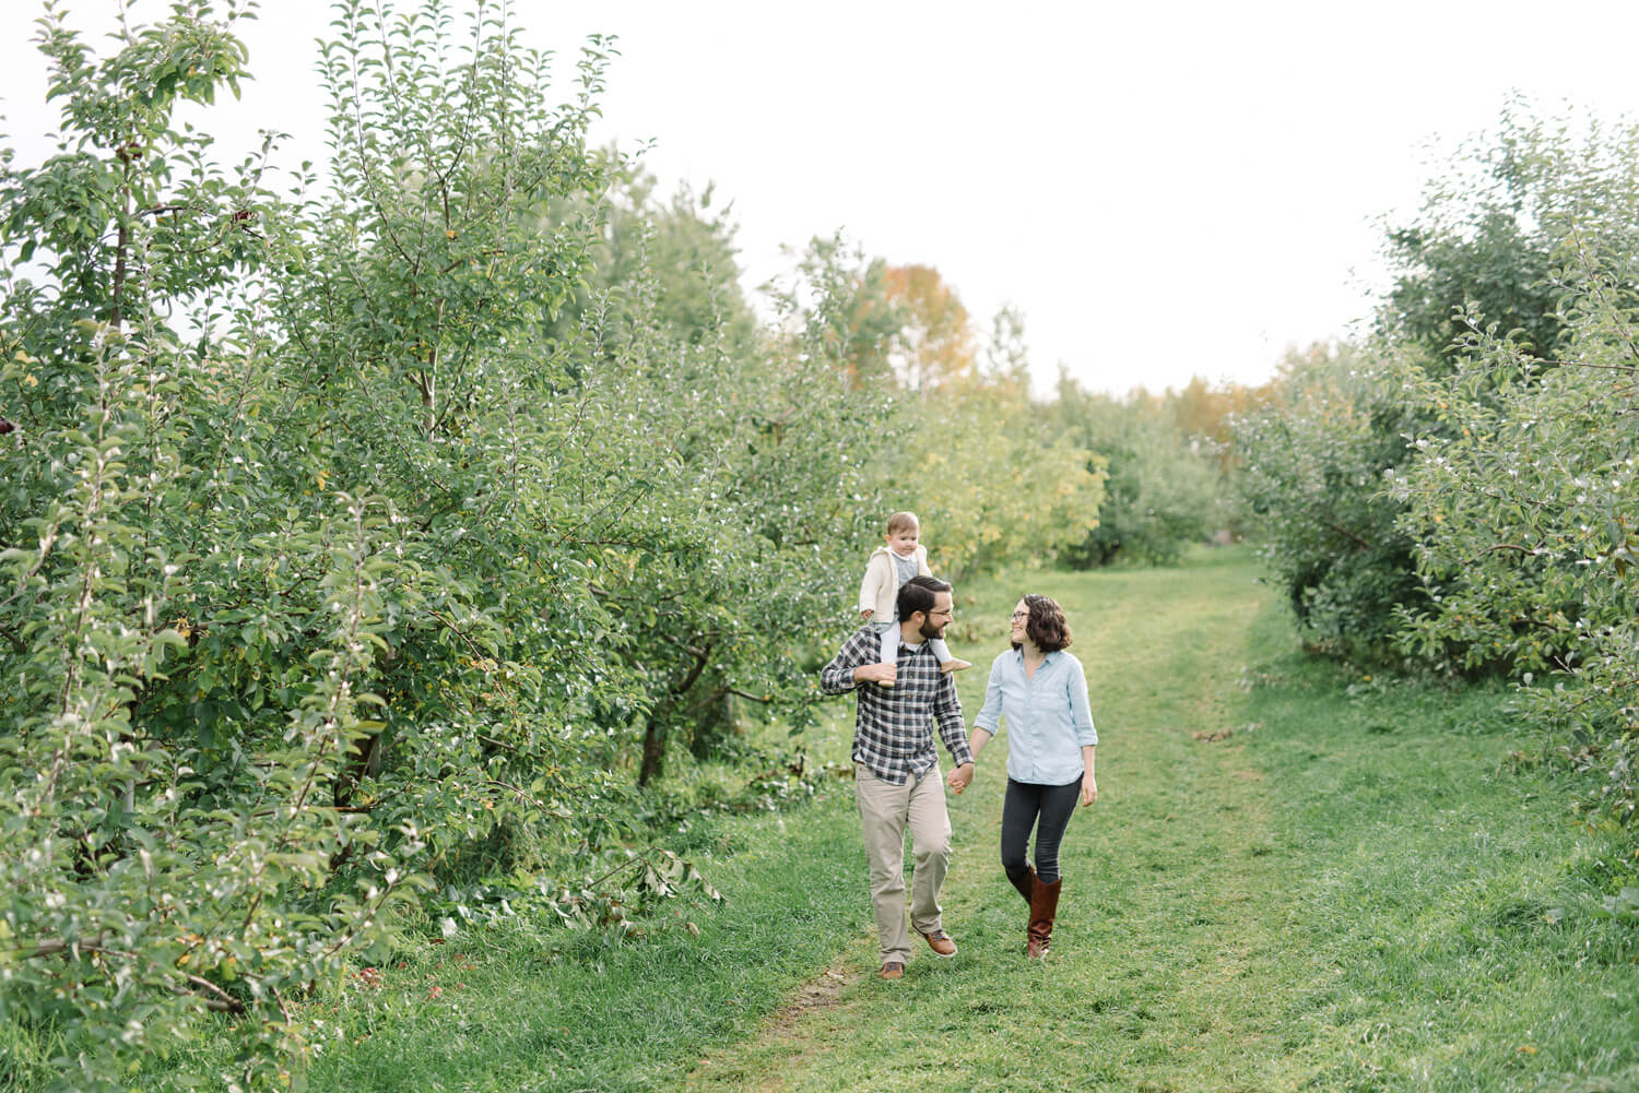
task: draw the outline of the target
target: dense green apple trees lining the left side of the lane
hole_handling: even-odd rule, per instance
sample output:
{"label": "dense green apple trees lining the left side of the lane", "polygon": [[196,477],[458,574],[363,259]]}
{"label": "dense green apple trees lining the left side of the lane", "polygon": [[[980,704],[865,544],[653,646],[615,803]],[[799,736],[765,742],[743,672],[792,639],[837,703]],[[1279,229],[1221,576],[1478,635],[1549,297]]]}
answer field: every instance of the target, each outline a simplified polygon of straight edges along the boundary
{"label": "dense green apple trees lining the left side of the lane", "polygon": [[51,1088],[218,1014],[220,1085],[290,1088],[313,985],[479,878],[618,926],[639,787],[811,719],[888,511],[946,574],[1096,519],[1015,323],[839,241],[759,321],[710,193],[588,146],[610,43],[561,102],[505,5],[343,0],[321,180],[172,121],[236,18],[100,57],[52,11],[64,146],[0,170],[0,1021]]}

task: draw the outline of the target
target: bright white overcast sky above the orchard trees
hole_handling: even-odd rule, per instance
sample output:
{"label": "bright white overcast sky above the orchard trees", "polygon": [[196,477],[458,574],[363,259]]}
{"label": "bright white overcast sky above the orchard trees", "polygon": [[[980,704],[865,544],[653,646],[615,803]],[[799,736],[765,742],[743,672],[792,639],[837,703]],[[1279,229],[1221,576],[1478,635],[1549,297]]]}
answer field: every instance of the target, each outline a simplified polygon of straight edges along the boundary
{"label": "bright white overcast sky above the orchard trees", "polygon": [[[38,157],[57,120],[23,33],[39,5],[3,3],[0,129]],[[66,7],[100,31],[118,2]],[[1632,2],[513,8],[565,54],[565,97],[583,36],[620,36],[600,139],[651,139],[662,180],[715,180],[747,285],[783,269],[782,244],[842,229],[934,265],[982,331],[1019,308],[1041,385],[1062,362],[1108,392],[1260,382],[1287,346],[1347,334],[1382,287],[1380,218],[1413,211],[1429,147],[1491,126],[1511,88],[1639,115]],[[256,80],[211,128],[279,128],[287,162],[323,157],[328,21],[328,0],[264,0]]]}

